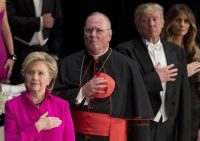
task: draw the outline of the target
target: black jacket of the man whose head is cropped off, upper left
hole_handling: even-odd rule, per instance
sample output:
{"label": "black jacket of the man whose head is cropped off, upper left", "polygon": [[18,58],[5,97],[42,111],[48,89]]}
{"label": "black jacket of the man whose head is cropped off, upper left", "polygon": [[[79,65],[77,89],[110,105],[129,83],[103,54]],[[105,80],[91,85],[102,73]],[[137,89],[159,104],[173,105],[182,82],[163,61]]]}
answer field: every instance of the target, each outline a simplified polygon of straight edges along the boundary
{"label": "black jacket of the man whose head is cropped off, upper left", "polygon": [[[33,0],[7,0],[7,13],[13,36],[30,42],[34,32],[40,29],[40,18],[36,17]],[[59,54],[62,40],[62,10],[59,0],[43,0],[42,14],[52,13],[53,28],[44,28],[44,37],[49,37],[50,53]]]}

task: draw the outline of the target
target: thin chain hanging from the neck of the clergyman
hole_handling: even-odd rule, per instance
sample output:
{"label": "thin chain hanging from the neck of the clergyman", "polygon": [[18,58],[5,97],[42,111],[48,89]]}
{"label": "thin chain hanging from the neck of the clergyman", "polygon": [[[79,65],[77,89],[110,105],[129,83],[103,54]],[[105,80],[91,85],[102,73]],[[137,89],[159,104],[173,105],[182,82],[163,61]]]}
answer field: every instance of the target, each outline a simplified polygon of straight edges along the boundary
{"label": "thin chain hanging from the neck of the clergyman", "polygon": [[[108,54],[108,56],[106,57],[105,61],[103,62],[103,64],[101,65],[100,69],[97,71],[97,74],[101,72],[102,68],[104,67],[104,65],[106,64],[106,62],[108,61],[108,58],[110,57],[110,55],[112,54],[112,48],[110,48],[110,53]],[[85,70],[85,73],[83,74],[83,65],[84,65],[84,62],[85,62],[85,57],[86,57],[86,53],[84,54],[83,56],[83,59],[82,59],[82,62],[81,62],[81,73],[80,73],[80,87],[82,85],[82,81],[92,63],[92,61],[90,61],[88,67],[86,68]]]}

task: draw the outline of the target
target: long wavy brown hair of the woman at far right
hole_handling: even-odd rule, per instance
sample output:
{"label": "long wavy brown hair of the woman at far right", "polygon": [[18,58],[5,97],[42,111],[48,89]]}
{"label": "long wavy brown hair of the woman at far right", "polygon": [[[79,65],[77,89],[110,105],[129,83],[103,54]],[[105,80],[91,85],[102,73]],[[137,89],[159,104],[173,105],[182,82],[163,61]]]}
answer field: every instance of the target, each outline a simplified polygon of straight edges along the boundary
{"label": "long wavy brown hair of the woman at far right", "polygon": [[186,50],[187,55],[192,59],[191,61],[200,61],[200,50],[195,42],[197,34],[196,19],[192,10],[187,5],[176,4],[167,11],[161,37],[166,41],[176,43],[172,36],[173,32],[171,27],[180,13],[186,14],[190,23],[189,30],[183,39],[184,49]]}

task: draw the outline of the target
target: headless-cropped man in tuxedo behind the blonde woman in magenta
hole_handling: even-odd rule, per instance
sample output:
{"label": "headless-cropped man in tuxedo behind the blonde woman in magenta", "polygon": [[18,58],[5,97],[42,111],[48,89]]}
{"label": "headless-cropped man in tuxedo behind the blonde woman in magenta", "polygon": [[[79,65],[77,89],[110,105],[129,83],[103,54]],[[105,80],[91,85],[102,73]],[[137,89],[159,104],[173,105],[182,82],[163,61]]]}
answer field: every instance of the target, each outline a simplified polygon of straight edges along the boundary
{"label": "headless-cropped man in tuxedo behind the blonde woman in magenta", "polygon": [[7,0],[8,19],[14,38],[17,61],[12,83],[22,82],[21,64],[33,51],[59,57],[62,41],[60,0]]}

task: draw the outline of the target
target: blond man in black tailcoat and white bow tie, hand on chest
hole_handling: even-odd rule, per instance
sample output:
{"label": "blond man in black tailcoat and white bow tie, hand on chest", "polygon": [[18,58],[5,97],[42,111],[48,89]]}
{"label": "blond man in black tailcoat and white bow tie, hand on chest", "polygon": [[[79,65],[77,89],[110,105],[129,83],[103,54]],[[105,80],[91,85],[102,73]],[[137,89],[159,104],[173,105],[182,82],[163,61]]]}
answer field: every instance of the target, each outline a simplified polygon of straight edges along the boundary
{"label": "blond man in black tailcoat and white bow tie, hand on chest", "polygon": [[[150,127],[138,128],[141,134],[150,131],[151,141],[190,141],[191,103],[184,50],[160,39],[164,25],[161,5],[139,5],[134,22],[140,38],[116,49],[138,62],[148,89],[155,117]],[[130,140],[138,136],[134,130],[129,134]]]}

